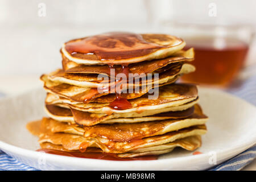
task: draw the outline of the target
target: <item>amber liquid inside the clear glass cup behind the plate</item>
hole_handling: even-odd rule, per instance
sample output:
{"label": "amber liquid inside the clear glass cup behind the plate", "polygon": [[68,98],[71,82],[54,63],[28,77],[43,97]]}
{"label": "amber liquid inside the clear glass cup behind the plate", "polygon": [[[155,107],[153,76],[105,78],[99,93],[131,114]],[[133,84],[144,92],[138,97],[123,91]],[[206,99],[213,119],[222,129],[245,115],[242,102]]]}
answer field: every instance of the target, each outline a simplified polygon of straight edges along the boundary
{"label": "amber liquid inside the clear glass cup behind the plate", "polygon": [[195,48],[196,71],[182,80],[201,85],[229,86],[245,62],[248,45],[234,38],[189,38],[188,48]]}

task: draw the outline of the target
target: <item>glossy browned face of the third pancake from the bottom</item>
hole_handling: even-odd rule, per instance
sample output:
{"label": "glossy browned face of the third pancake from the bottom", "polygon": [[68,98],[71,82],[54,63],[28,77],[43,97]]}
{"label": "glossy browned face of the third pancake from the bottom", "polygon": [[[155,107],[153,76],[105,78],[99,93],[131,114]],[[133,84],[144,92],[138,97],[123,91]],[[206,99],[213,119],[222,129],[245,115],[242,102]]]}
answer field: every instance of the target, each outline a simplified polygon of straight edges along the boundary
{"label": "glossy browned face of the third pancake from the bottom", "polygon": [[[195,112],[186,119],[207,119],[203,114],[199,105],[196,105]],[[140,123],[114,123],[114,124],[98,124],[94,126],[85,126],[85,137],[101,137],[108,138],[116,142],[127,142],[133,139],[141,139],[159,134],[168,125],[180,122],[183,119],[166,119],[164,121],[150,121]],[[191,121],[191,125],[193,122]],[[183,127],[183,125],[180,125]]]}

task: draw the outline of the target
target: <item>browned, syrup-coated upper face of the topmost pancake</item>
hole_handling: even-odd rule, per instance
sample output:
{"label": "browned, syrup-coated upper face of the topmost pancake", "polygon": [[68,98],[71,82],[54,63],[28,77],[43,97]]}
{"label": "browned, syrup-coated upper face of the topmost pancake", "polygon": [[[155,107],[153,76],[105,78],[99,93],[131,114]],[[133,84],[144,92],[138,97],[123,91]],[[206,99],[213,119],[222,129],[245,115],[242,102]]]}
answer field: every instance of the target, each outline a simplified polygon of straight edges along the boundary
{"label": "browned, syrup-coated upper face of the topmost pancake", "polygon": [[113,61],[143,57],[159,49],[175,47],[183,40],[164,34],[109,32],[65,43],[72,57],[85,60]]}

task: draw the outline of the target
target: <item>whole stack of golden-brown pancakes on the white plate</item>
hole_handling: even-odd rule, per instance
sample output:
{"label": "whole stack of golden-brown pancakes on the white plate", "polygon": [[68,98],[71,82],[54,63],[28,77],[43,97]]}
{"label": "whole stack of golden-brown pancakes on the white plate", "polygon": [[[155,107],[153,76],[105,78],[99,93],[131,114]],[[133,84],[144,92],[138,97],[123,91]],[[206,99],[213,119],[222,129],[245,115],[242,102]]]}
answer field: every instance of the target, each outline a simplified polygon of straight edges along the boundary
{"label": "whole stack of golden-brown pancakes on the white plate", "polygon": [[[29,123],[28,129],[49,150],[106,152],[120,158],[160,155],[175,147],[195,150],[207,132],[208,117],[197,104],[196,86],[175,83],[195,71],[189,64],[193,49],[184,51],[184,46],[175,36],[127,32],[65,43],[63,69],[41,77],[49,118]],[[117,79],[119,73],[122,78]],[[136,73],[152,76],[125,80]]]}

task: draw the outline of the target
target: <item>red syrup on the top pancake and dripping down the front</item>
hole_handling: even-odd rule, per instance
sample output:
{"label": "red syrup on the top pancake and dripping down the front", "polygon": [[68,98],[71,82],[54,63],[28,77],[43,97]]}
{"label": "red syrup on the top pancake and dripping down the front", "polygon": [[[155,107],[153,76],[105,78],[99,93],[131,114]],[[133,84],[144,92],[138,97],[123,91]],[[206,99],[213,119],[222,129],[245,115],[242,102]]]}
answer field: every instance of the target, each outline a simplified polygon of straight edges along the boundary
{"label": "red syrup on the top pancake and dripping down the front", "polygon": [[[131,57],[138,57],[146,55],[157,48],[162,48],[158,44],[146,42],[141,35],[128,33],[128,32],[110,32],[84,38],[77,42],[69,42],[66,44],[65,49],[71,54],[94,54],[100,60],[114,60],[114,59],[129,59]],[[109,73],[111,69],[116,67],[113,64],[109,65]],[[115,75],[124,73],[127,80],[129,80],[130,68],[128,64],[122,64],[121,68],[117,69]],[[110,103],[109,107],[117,110],[124,110],[131,108],[130,102],[120,96],[121,90],[117,91],[117,84],[127,84],[127,80],[114,80],[114,92],[116,94],[115,100]],[[106,91],[112,92],[113,85],[110,83],[110,88]],[[78,94],[73,100],[87,102],[99,96],[97,88],[92,88],[84,93]]]}

